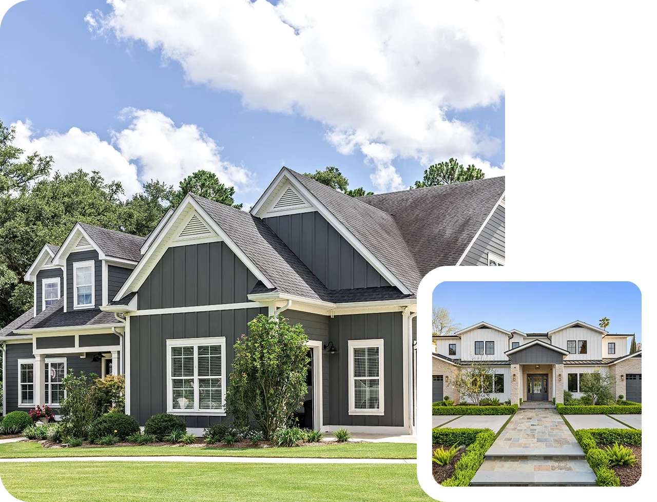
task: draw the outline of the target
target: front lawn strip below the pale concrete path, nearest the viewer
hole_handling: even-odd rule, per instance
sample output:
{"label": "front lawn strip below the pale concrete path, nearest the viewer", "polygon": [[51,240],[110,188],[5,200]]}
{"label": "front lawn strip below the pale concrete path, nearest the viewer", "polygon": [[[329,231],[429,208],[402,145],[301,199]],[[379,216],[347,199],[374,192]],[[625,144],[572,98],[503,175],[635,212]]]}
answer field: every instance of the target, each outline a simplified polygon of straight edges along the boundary
{"label": "front lawn strip below the pale concrete path, nearest the viewer", "polygon": [[0,464],[22,502],[430,502],[415,465]]}

